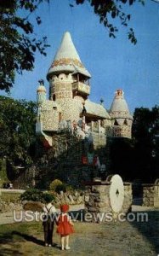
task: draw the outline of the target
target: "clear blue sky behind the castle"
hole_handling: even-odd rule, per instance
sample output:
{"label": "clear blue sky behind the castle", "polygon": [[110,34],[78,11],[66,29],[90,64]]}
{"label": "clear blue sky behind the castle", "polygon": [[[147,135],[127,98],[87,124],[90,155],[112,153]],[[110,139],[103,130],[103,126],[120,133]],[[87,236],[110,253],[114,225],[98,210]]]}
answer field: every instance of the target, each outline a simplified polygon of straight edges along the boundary
{"label": "clear blue sky behind the castle", "polygon": [[[50,0],[49,5],[41,3],[36,13],[30,15],[36,36],[47,36],[50,47],[46,57],[35,55],[33,71],[16,75],[10,96],[36,101],[39,79],[44,79],[48,90],[48,68],[64,32],[69,31],[82,63],[92,75],[90,100],[99,102],[102,97],[109,109],[116,89],[122,89],[132,113],[134,108],[159,104],[159,3],[145,0],[145,6],[125,6],[124,10],[131,14],[129,26],[137,37],[136,45],[130,43],[127,28],[118,20],[114,21],[119,32],[115,39],[109,38],[88,3],[74,4],[73,8],[71,3],[74,0]],[[35,22],[37,15],[43,21],[40,26]],[[2,90],[0,95],[7,96]]]}

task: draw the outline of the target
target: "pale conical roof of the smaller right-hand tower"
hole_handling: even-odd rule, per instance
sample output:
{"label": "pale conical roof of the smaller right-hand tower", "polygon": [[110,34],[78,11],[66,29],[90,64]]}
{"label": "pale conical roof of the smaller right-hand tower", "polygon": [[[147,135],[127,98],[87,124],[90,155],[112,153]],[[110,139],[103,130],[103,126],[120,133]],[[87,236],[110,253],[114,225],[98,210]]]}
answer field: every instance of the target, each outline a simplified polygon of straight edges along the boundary
{"label": "pale conical roof of the smaller right-hand tower", "polygon": [[[128,110],[128,104],[124,99],[124,93],[121,89],[116,90],[116,95],[113,99],[110,109],[112,118],[133,118]],[[122,120],[120,120],[122,121]]]}

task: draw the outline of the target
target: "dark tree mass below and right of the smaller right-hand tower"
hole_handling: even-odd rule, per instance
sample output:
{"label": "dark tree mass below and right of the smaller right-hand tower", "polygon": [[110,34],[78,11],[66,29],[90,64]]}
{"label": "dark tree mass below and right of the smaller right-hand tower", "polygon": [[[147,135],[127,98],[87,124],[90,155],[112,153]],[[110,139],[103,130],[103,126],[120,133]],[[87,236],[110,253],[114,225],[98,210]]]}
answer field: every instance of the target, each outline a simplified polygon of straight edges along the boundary
{"label": "dark tree mass below and right of the smaller right-hand tower", "polygon": [[132,140],[111,141],[111,173],[121,174],[125,181],[154,183],[159,169],[159,107],[136,108],[132,130]]}

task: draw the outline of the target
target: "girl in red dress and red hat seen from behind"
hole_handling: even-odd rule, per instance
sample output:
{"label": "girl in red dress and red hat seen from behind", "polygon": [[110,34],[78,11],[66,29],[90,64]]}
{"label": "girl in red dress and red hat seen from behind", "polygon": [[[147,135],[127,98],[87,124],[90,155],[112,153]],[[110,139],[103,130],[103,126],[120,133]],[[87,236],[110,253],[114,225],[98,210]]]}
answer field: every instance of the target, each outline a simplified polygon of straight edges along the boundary
{"label": "girl in red dress and red hat seen from behind", "polygon": [[62,205],[60,207],[60,217],[57,221],[57,233],[60,234],[60,242],[61,242],[61,249],[69,250],[69,235],[73,233],[73,223],[71,222],[71,217],[68,215],[69,206]]}

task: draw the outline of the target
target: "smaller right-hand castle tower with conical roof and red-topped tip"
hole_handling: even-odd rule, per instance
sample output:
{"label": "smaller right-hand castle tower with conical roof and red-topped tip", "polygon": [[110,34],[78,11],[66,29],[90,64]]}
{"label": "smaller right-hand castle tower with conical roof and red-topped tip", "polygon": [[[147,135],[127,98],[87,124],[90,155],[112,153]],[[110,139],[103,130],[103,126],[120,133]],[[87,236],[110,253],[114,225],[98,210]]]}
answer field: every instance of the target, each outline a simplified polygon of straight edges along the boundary
{"label": "smaller right-hand castle tower with conical roof and red-topped tip", "polygon": [[116,95],[111,104],[110,116],[112,137],[132,137],[133,116],[129,113],[128,104],[124,99],[121,89],[116,90]]}

